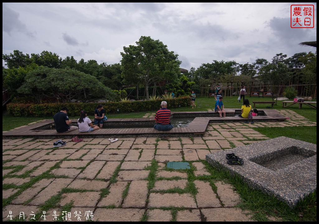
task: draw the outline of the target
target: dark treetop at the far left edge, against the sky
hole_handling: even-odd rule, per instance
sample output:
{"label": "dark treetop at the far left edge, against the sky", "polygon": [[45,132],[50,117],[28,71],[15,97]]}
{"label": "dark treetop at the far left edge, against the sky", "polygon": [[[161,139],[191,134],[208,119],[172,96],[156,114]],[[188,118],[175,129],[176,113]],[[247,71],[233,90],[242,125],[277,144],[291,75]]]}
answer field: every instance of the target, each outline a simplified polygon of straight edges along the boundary
{"label": "dark treetop at the far left edge, against the sky", "polygon": [[19,69],[19,67],[25,68],[32,63],[29,54],[23,54],[23,52],[14,50],[10,55],[2,54],[2,59],[6,62],[5,65],[8,69]]}

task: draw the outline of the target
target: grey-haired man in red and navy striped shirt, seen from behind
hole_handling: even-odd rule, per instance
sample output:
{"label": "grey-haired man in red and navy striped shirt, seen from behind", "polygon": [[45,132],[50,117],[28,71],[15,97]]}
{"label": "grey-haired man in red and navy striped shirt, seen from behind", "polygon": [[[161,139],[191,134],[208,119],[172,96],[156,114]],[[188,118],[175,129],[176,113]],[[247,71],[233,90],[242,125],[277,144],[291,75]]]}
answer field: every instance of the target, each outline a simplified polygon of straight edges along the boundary
{"label": "grey-haired man in red and navy striped shirt, seen from behind", "polygon": [[154,128],[159,131],[168,131],[173,128],[169,117],[171,116],[171,111],[167,109],[167,102],[162,101],[161,108],[156,112]]}

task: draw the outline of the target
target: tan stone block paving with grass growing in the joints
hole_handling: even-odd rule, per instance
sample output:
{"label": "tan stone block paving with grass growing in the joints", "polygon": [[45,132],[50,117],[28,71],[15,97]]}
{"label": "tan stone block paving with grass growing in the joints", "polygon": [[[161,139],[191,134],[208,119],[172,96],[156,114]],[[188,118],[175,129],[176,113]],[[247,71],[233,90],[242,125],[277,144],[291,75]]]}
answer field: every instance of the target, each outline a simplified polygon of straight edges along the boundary
{"label": "tan stone block paving with grass growing in the joints", "polygon": [[[279,112],[291,119],[210,124],[204,137],[64,139],[59,148],[57,139],[3,139],[3,220],[252,221],[236,207],[234,187],[207,170],[205,155],[268,139],[251,127],[316,126]],[[168,169],[168,161],[191,169]]]}

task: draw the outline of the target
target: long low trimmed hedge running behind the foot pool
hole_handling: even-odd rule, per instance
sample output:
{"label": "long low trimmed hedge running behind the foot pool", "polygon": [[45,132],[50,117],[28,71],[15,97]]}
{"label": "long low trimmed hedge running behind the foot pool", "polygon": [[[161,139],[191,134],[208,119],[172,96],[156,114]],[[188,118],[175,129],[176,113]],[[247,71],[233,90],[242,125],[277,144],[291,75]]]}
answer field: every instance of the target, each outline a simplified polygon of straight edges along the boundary
{"label": "long low trimmed hedge running behind the foot pool", "polygon": [[[142,111],[157,111],[163,100],[133,101],[133,102],[107,102],[103,103],[105,114],[130,113]],[[178,97],[168,99],[168,108],[177,108],[191,105],[190,98]],[[13,116],[19,117],[52,117],[59,112],[62,107],[69,109],[69,116],[79,116],[81,110],[85,110],[87,115],[94,115],[94,110],[100,103],[45,103],[45,104],[7,104],[7,110]],[[117,111],[117,109],[119,111]]]}

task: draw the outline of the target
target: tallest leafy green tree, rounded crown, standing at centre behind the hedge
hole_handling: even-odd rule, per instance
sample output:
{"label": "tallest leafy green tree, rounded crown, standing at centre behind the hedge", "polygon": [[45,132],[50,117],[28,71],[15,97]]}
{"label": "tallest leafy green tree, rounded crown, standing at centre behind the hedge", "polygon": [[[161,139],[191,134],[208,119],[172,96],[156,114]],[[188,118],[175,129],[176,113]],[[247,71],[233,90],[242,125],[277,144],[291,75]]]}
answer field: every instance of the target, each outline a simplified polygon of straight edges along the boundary
{"label": "tallest leafy green tree, rounded crown, standing at centre behind the hedge", "polygon": [[181,61],[167,45],[151,37],[141,36],[137,46],[123,47],[121,52],[122,77],[127,82],[137,83],[143,79],[146,99],[149,100],[148,87],[160,80],[177,80]]}

